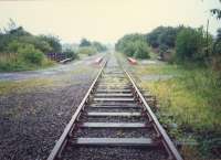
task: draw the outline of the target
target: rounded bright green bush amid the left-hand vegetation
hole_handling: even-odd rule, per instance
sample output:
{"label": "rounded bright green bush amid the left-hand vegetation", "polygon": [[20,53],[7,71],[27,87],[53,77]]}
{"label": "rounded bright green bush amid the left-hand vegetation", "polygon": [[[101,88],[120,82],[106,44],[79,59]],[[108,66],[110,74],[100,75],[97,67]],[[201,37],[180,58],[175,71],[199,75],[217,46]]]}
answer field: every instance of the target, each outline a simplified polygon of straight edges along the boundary
{"label": "rounded bright green bush amid the left-hand vegetation", "polygon": [[30,64],[41,65],[44,60],[44,54],[34,47],[32,44],[25,44],[18,50],[19,57]]}

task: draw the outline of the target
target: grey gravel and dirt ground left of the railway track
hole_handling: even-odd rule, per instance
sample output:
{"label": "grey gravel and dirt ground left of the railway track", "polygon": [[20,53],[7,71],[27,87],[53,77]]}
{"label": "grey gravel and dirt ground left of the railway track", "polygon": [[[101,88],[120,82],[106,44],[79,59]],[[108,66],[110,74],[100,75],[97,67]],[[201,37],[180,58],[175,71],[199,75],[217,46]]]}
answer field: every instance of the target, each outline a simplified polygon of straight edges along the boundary
{"label": "grey gravel and dirt ground left of the railway track", "polygon": [[18,78],[8,74],[10,81],[51,81],[50,85],[0,95],[1,160],[41,160],[49,156],[99,68],[92,64],[94,58],[63,66],[66,70],[18,73]]}

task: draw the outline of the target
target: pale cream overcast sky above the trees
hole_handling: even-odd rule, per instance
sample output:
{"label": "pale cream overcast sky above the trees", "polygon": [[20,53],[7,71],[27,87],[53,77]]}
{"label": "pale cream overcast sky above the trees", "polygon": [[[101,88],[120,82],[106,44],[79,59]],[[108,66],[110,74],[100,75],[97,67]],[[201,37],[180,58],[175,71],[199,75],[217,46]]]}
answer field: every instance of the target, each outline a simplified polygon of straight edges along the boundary
{"label": "pale cream overcast sky above the trees", "polygon": [[221,8],[219,0],[0,0],[0,28],[12,18],[33,34],[55,34],[63,42],[115,43],[158,25],[206,26],[209,18],[215,34],[221,20],[210,17],[211,8]]}

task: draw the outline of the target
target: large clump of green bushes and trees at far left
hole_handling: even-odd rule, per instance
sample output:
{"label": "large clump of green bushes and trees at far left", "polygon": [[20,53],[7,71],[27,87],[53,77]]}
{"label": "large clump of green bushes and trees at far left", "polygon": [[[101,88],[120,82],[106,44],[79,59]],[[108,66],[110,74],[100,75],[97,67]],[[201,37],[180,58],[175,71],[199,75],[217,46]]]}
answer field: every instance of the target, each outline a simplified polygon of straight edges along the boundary
{"label": "large clump of green bushes and trees at far left", "polygon": [[44,55],[61,52],[57,38],[32,35],[10,20],[8,29],[0,32],[0,71],[23,71],[53,64]]}

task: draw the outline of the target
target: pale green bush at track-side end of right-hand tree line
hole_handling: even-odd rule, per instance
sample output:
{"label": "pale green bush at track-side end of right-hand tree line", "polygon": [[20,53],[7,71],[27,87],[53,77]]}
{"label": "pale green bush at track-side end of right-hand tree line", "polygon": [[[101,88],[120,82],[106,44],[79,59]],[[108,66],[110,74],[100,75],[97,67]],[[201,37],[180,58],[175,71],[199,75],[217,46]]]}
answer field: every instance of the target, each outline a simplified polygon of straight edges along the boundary
{"label": "pale green bush at track-side end of right-hand tree line", "polygon": [[127,34],[118,40],[115,47],[127,56],[135,56],[137,58],[149,57],[149,46],[143,34]]}

